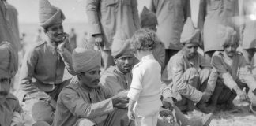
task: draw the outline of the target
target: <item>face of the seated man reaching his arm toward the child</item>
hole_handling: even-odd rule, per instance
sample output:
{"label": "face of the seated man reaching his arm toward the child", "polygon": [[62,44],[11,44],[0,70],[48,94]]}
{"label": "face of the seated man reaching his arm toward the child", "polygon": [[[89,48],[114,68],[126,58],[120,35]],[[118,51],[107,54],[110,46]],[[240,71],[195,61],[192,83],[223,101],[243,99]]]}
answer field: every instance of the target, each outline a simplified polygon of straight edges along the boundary
{"label": "face of the seated man reaching his arm toward the child", "polygon": [[94,89],[98,87],[100,82],[100,67],[96,67],[88,72],[81,73],[80,81],[83,86],[89,89]]}

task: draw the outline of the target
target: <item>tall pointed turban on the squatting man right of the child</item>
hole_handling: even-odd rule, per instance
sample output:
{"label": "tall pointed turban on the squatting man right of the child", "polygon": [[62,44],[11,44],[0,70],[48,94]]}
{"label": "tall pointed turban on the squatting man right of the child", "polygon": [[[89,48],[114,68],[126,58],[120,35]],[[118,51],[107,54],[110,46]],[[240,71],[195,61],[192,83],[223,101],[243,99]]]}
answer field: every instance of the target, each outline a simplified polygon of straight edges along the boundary
{"label": "tall pointed turban on the squatting man right of the child", "polygon": [[190,17],[187,17],[180,36],[180,43],[199,43],[200,31],[194,27]]}

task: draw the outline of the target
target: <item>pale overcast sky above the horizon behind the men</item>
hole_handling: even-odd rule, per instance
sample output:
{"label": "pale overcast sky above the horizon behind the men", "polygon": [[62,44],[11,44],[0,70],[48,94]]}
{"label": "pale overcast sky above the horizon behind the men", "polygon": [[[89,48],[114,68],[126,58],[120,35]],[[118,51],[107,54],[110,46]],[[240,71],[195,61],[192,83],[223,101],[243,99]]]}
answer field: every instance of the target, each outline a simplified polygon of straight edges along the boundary
{"label": "pale overcast sky above the horizon behind the men", "polygon": [[[38,23],[39,0],[7,0],[17,8],[20,23]],[[138,9],[148,6],[149,0],[137,0]],[[49,0],[52,5],[62,9],[66,16],[66,23],[87,22],[85,14],[86,0]]]}

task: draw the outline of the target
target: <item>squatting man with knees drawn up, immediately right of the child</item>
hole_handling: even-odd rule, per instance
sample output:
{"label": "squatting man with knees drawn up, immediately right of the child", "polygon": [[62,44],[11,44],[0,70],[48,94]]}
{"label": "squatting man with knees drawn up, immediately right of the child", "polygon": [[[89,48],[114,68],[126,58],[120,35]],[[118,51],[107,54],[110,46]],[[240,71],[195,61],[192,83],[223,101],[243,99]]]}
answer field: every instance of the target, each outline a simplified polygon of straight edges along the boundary
{"label": "squatting man with knees drawn up, immediately right of the child", "polygon": [[[176,94],[178,102],[175,105],[179,109],[184,112],[193,111],[194,103],[198,103],[201,111],[209,113],[204,102],[213,94],[217,74],[205,57],[197,52],[199,34],[192,20],[187,18],[180,39],[183,49],[171,57],[162,74],[162,81]],[[164,90],[164,98],[171,96],[166,91],[169,90]]]}

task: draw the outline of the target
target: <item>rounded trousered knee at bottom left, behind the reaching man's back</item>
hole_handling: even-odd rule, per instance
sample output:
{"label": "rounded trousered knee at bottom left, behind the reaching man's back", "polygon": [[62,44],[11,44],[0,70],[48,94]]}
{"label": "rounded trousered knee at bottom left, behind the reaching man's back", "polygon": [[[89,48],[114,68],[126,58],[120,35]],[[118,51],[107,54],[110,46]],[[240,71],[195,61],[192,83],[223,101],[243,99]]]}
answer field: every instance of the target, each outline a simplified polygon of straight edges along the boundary
{"label": "rounded trousered knee at bottom left, behind the reaching man's back", "polygon": [[36,121],[45,121],[48,124],[52,124],[55,117],[54,109],[47,102],[36,102],[32,106],[32,117]]}

